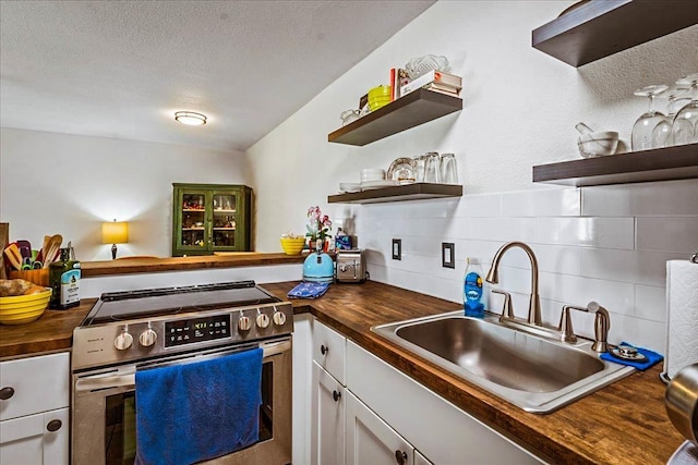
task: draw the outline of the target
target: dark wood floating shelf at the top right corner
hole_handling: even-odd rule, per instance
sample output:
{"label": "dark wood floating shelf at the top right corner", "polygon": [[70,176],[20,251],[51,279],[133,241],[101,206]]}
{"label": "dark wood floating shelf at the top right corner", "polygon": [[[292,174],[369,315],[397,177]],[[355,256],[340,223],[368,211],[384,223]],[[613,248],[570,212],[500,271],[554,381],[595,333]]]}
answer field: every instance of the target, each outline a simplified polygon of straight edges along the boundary
{"label": "dark wood floating shelf at the top right corner", "polygon": [[693,0],[591,0],[579,2],[537,28],[533,47],[581,66],[698,24]]}

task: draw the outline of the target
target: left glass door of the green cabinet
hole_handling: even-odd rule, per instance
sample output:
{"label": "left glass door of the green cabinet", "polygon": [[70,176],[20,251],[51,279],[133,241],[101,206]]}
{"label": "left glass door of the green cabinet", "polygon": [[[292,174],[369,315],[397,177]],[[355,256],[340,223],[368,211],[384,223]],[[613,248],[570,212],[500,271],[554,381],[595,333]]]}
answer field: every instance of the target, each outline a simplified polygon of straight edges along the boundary
{"label": "left glass door of the green cabinet", "polygon": [[209,193],[205,188],[174,187],[172,255],[207,254],[210,222],[206,213]]}

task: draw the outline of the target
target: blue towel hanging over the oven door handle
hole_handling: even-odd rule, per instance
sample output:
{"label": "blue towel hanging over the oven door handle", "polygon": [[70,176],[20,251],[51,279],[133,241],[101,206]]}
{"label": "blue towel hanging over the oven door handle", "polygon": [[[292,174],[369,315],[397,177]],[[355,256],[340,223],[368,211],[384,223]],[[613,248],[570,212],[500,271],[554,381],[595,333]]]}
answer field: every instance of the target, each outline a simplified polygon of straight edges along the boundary
{"label": "blue towel hanging over the oven door handle", "polygon": [[135,374],[139,465],[189,465],[258,441],[262,348]]}

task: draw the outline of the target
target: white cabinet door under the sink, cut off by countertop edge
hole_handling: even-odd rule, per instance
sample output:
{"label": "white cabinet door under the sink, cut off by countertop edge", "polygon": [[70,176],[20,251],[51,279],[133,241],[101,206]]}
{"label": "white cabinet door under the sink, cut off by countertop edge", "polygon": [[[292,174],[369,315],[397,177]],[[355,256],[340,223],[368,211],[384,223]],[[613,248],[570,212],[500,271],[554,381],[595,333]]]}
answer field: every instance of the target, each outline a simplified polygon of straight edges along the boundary
{"label": "white cabinet door under the sink, cut off by countertop edge", "polygon": [[410,465],[414,449],[347,391],[347,465]]}

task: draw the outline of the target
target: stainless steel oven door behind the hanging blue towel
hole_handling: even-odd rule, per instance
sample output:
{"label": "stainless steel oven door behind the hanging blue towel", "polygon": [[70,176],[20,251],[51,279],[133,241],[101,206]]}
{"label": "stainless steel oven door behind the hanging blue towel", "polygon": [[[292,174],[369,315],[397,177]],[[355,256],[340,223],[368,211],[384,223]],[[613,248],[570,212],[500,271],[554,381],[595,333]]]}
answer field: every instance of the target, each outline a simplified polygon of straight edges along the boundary
{"label": "stainless steel oven door behind the hanging blue towel", "polygon": [[[151,368],[186,363],[195,357],[218,357],[256,346],[264,350],[260,440],[245,449],[204,463],[284,465],[291,462],[291,339],[180,355],[147,364]],[[140,366],[144,365],[73,374],[74,465],[134,463],[135,371]]]}

